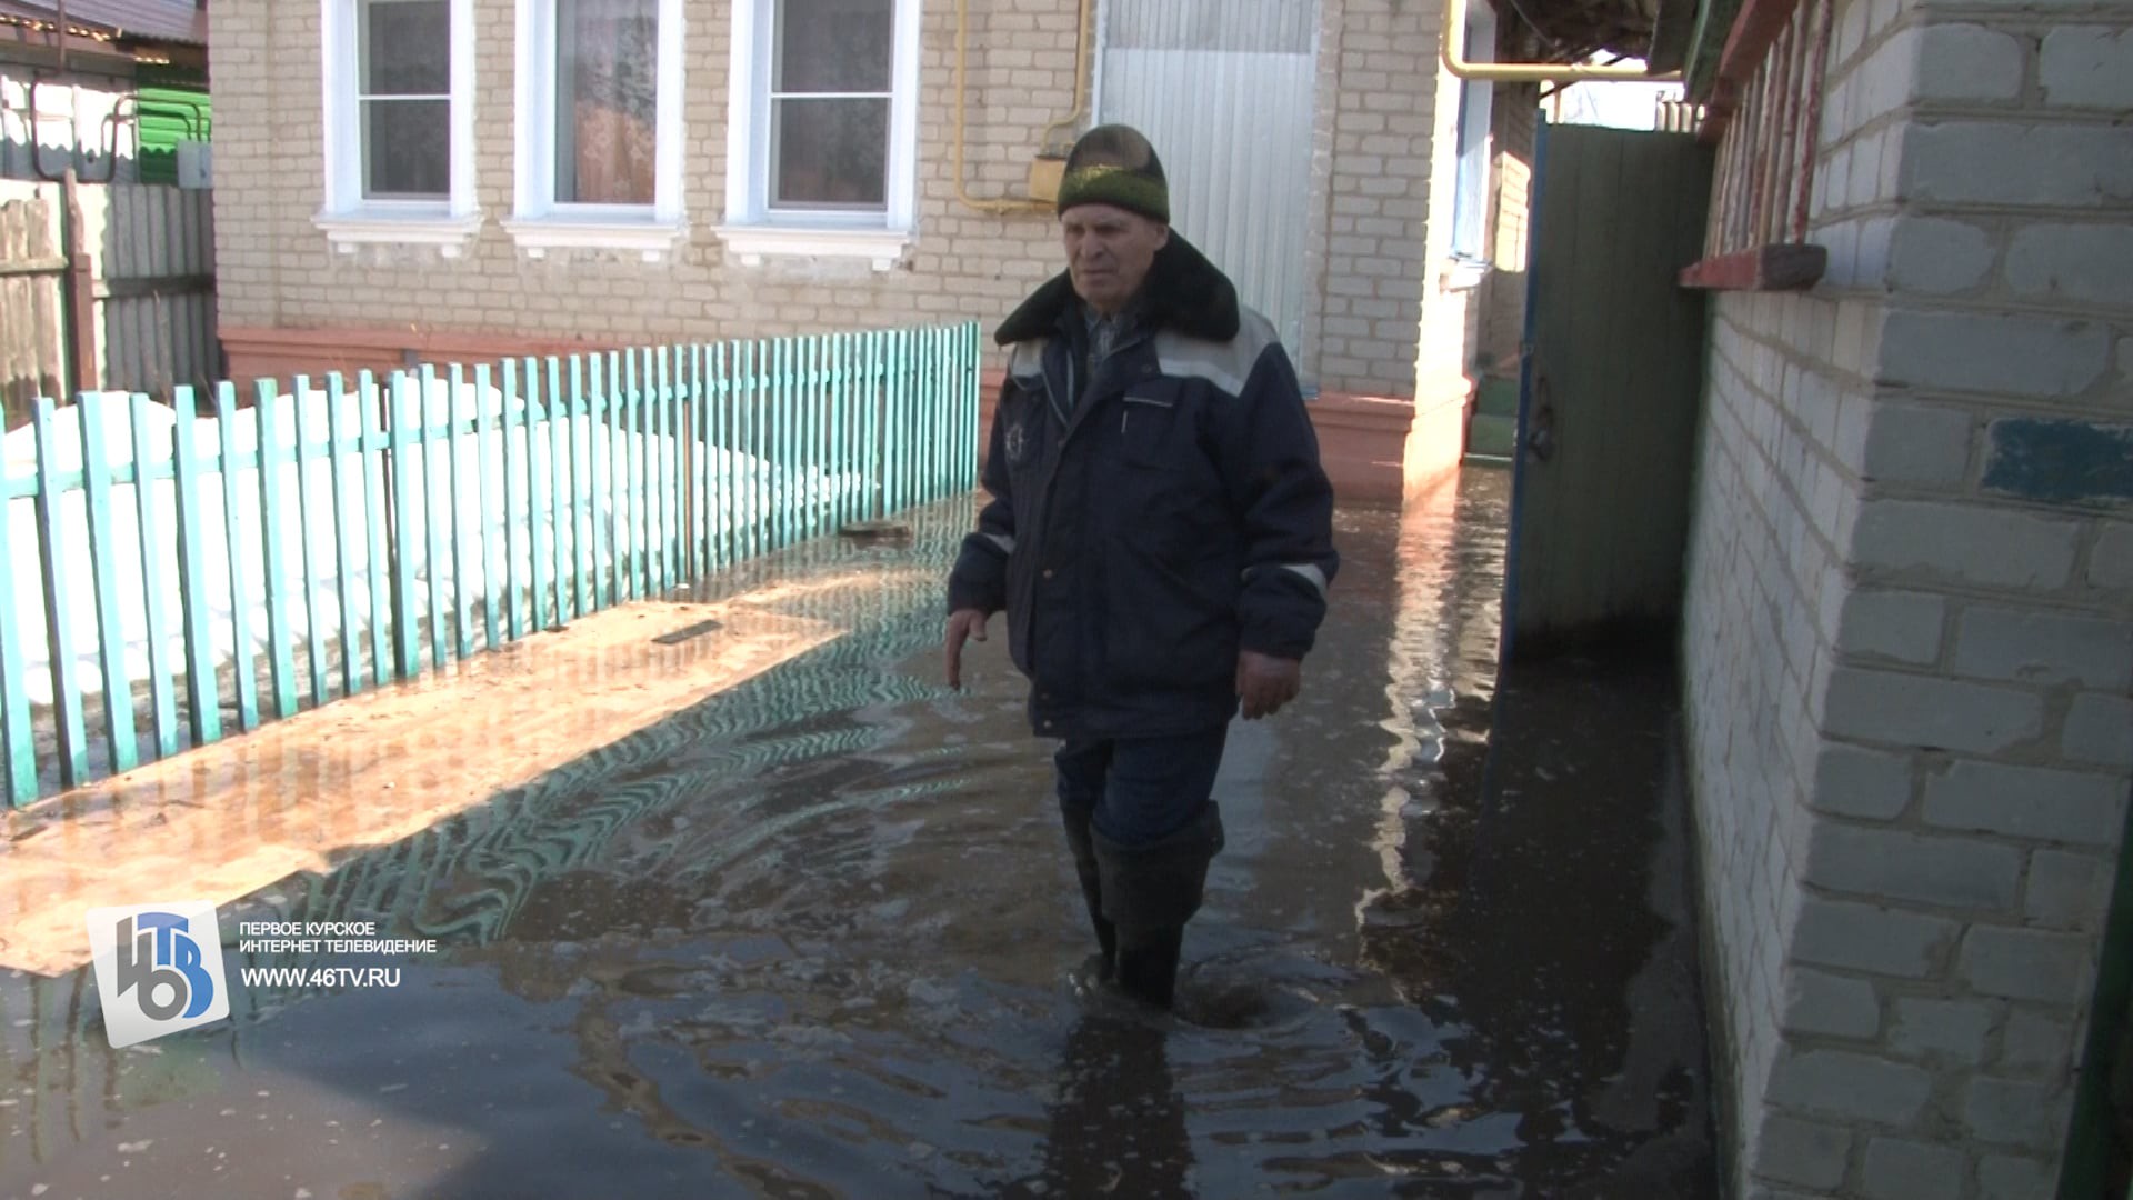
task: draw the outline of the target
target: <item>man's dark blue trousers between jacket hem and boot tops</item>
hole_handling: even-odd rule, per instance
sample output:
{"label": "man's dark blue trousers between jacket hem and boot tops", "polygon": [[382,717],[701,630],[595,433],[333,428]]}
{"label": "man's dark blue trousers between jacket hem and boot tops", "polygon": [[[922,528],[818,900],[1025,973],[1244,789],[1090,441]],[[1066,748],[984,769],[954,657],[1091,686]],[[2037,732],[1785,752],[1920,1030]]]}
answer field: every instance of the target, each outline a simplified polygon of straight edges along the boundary
{"label": "man's dark blue trousers between jacket hem and boot tops", "polygon": [[1201,816],[1226,743],[1226,724],[1180,737],[1069,739],[1052,756],[1060,816],[1120,846],[1177,833]]}

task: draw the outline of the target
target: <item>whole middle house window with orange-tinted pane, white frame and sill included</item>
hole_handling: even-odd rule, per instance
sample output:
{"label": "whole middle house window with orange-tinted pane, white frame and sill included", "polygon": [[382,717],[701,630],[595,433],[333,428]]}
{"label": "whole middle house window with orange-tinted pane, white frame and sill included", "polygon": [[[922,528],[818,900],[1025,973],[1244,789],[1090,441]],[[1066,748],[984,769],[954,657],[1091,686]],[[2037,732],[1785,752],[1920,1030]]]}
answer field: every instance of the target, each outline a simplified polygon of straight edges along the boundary
{"label": "whole middle house window with orange-tinted pane, white frame and sill included", "polygon": [[518,177],[529,254],[683,235],[680,0],[520,0]]}

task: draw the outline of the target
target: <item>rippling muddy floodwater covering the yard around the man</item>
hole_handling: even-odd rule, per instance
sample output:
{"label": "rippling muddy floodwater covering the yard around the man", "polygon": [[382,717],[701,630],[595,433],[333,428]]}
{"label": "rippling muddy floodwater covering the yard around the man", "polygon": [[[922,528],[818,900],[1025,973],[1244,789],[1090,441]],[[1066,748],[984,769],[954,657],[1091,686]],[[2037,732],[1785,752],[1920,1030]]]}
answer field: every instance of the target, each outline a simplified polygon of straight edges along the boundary
{"label": "rippling muddy floodwater covering the yard around the man", "polygon": [[[1342,512],[1173,1016],[1071,982],[998,621],[941,685],[958,500],[702,596],[817,649],[224,905],[230,1021],[113,1051],[87,969],[0,972],[0,1198],[1715,1196],[1670,668],[1497,679],[1508,493]],[[243,986],[269,918],[439,948]]]}

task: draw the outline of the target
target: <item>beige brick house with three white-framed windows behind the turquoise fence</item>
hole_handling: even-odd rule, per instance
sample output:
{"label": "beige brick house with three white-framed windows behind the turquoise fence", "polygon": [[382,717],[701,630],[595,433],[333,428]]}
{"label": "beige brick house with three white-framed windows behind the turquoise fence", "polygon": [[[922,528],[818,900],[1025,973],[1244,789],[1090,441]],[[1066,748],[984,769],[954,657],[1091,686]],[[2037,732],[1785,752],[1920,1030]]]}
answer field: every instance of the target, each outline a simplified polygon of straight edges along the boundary
{"label": "beige brick house with three white-framed windows behind the turquoise fence", "polygon": [[[1476,13],[1487,58],[1495,21]],[[990,327],[1060,265],[1032,162],[1096,120],[1148,128],[1180,231],[1284,331],[1346,495],[1455,463],[1491,357],[1489,85],[1444,70],[1431,4],[218,0],[211,17],[232,378]],[[1502,357],[1517,320],[1495,327]]]}

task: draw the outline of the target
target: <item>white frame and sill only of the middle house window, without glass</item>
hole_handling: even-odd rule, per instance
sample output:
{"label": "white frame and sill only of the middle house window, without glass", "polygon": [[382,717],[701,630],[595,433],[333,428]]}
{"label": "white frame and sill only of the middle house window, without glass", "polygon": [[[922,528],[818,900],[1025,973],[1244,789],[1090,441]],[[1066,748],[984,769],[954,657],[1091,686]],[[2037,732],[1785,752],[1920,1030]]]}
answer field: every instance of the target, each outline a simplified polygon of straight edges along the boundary
{"label": "white frame and sill only of the middle house window, without glass", "polygon": [[659,0],[659,62],[653,109],[653,203],[587,205],[555,199],[555,6],[518,0],[516,177],[506,233],[529,258],[550,250],[634,250],[661,260],[687,237],[680,164],[683,132],[683,0]]}

